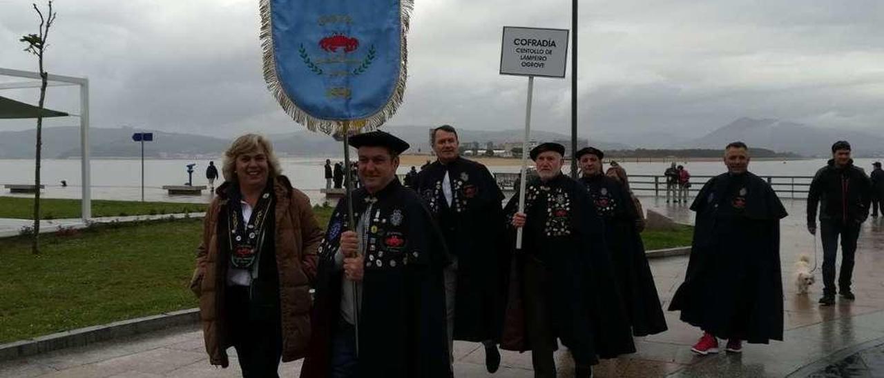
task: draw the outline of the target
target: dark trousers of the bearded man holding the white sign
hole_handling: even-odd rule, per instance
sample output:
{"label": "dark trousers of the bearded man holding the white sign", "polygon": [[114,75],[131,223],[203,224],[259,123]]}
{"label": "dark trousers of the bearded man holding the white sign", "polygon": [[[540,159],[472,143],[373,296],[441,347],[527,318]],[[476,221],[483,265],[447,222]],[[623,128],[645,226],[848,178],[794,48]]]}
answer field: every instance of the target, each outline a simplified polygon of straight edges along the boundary
{"label": "dark trousers of the bearded man holding the white sign", "polygon": [[[535,378],[555,378],[556,368],[553,352],[558,347],[557,330],[552,323],[551,306],[547,300],[550,282],[543,263],[525,256],[524,265],[524,311],[528,343],[531,345],[531,365]],[[592,356],[583,351],[571,350],[571,357],[578,367],[590,367]]]}

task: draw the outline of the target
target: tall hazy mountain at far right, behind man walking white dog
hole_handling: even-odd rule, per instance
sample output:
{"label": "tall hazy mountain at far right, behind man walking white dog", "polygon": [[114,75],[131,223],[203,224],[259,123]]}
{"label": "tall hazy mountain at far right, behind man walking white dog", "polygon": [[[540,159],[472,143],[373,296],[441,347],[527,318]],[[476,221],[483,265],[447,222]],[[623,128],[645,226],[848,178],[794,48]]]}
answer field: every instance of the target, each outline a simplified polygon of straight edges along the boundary
{"label": "tall hazy mountain at far right, behind man walking white dog", "polygon": [[837,140],[850,141],[854,155],[884,155],[884,138],[866,132],[823,129],[778,119],[739,118],[704,137],[678,144],[681,148],[723,148],[729,142],[743,140],[749,147],[763,147],[777,152],[804,156],[831,155]]}

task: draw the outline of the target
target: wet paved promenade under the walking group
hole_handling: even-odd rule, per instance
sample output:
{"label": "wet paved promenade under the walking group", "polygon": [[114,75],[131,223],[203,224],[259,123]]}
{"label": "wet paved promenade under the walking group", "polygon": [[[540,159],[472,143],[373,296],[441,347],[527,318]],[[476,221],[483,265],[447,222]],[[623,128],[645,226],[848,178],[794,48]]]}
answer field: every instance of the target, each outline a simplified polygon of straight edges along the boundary
{"label": "wet paved promenade under the walking group", "polygon": [[[643,198],[645,208],[690,223],[691,212],[684,204]],[[742,354],[698,357],[690,352],[700,331],[667,312],[669,330],[659,335],[636,338],[638,352],[620,359],[603,360],[597,377],[837,377],[884,376],[884,220],[863,225],[854,271],[854,302],[840,300],[835,306],[819,307],[822,276],[808,295],[796,293],[791,282],[792,265],[802,253],[814,253],[814,239],[804,226],[804,200],[784,200],[789,217],[782,221],[781,266],[783,276],[785,335],[783,342],[746,344]],[[818,248],[819,266],[822,249]],[[688,257],[651,261],[660,300],[664,308],[682,282]],[[840,264],[840,259],[839,259]],[[727,277],[722,277],[722,280]],[[231,350],[232,352],[232,350]],[[484,370],[480,344],[455,344],[457,377],[532,377],[530,353],[503,352],[497,374]],[[557,354],[560,376],[570,377],[573,367],[567,352]],[[282,376],[297,376],[300,362],[286,363]],[[195,329],[164,332],[106,342],[72,350],[51,352],[28,359],[0,363],[0,377],[225,377],[240,376],[235,359],[232,367],[210,367]]]}

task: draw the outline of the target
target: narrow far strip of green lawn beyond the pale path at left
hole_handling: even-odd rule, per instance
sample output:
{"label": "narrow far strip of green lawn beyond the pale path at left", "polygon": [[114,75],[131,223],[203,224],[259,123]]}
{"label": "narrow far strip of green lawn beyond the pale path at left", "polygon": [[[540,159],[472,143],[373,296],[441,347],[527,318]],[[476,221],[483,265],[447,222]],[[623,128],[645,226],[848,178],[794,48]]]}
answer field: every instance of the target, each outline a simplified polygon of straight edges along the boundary
{"label": "narrow far strip of green lawn beyond the pale path at left", "polygon": [[[92,200],[92,216],[158,215],[199,213],[202,203],[140,202],[133,200]],[[41,199],[42,219],[79,218],[80,200]],[[0,218],[34,219],[34,199],[0,197]]]}

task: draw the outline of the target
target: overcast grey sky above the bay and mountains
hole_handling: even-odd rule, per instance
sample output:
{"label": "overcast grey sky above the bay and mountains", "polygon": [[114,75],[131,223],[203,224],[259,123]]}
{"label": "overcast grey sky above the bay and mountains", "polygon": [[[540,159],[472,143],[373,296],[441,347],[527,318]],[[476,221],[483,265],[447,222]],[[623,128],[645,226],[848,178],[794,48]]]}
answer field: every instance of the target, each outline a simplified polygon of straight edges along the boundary
{"label": "overcast grey sky above the bay and mountains", "polygon": [[[36,70],[19,42],[36,31],[30,3],[0,0],[0,67]],[[584,0],[581,136],[689,139],[737,117],[884,134],[882,4]],[[301,129],[265,87],[257,0],[57,0],[55,7],[47,67],[90,79],[95,127],[225,137]],[[416,0],[405,102],[387,125],[522,127],[527,79],[498,74],[501,26],[570,28],[570,11],[567,0]],[[38,93],[0,95],[35,103]],[[48,104],[77,112],[76,95],[50,88]],[[534,99],[535,128],[569,130],[570,77],[537,79]]]}

